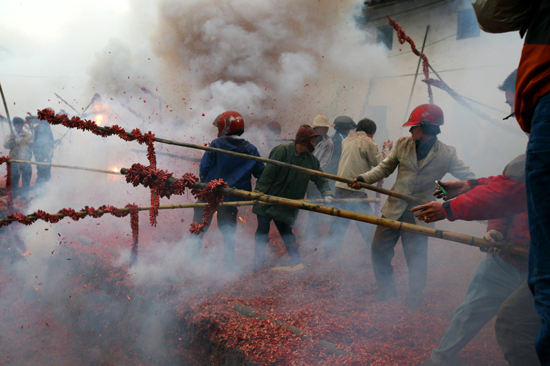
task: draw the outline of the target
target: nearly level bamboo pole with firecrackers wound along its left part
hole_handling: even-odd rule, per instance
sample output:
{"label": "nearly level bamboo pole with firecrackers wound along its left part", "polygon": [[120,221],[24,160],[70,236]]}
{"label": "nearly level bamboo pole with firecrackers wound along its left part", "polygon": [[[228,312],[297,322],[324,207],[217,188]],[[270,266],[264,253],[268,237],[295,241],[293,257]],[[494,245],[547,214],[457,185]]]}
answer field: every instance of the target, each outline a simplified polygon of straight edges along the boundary
{"label": "nearly level bamboo pole with firecrackers wound along its left part", "polygon": [[[120,173],[117,173],[120,174]],[[307,202],[307,203],[322,203],[322,199],[316,199],[316,200],[296,200],[298,202]],[[360,202],[360,203],[371,203],[371,202],[377,202],[380,201],[380,198],[336,198],[334,202],[341,203],[341,202]],[[0,202],[5,203],[5,201],[0,198]],[[206,202],[202,203],[182,203],[180,205],[162,205],[157,207],[157,209],[188,209],[188,208],[195,208],[195,207],[205,207],[208,205]],[[257,201],[233,201],[233,202],[222,202],[220,203],[220,206],[223,207],[241,207],[241,206],[254,206],[259,205]],[[266,203],[266,205],[276,205],[275,203]],[[151,206],[138,206],[137,211],[148,211],[151,209]],[[116,209],[119,212],[129,212],[130,207],[118,207]],[[105,214],[106,211],[102,209],[98,209],[98,212],[100,214]],[[77,214],[87,214],[87,211],[78,211]],[[65,214],[52,214],[52,216],[64,218]],[[37,217],[35,215],[27,215],[27,218],[30,220],[34,220]],[[0,222],[12,222],[17,221],[15,218],[1,218]]]}

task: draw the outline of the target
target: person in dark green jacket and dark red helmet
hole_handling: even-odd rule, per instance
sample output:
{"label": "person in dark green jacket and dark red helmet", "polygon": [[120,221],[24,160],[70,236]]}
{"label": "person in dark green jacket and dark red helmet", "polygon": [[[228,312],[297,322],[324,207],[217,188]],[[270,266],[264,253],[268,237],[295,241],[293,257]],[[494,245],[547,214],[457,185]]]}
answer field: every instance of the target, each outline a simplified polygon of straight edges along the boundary
{"label": "person in dark green jacket and dark red helmet", "polygon": [[[270,152],[270,159],[320,170],[318,159],[311,154],[315,149],[316,137],[318,137],[318,134],[315,133],[314,129],[307,124],[303,124],[298,128],[294,142],[276,146]],[[332,192],[326,178],[298,172],[298,170],[281,168],[272,164],[267,164],[263,170],[260,179],[256,182],[254,192],[301,200],[305,196],[309,181],[315,183],[325,201],[325,205],[331,205],[333,201]],[[275,222],[275,226],[281,234],[291,262],[290,266],[278,266],[274,269],[297,271],[303,268],[296,236],[292,233],[292,225],[298,215],[298,209],[278,205],[257,205],[254,206],[252,212],[258,218],[258,229],[254,234],[254,241],[256,242],[254,247],[254,271],[263,268],[267,243],[270,242],[268,234],[270,233],[271,220]]]}

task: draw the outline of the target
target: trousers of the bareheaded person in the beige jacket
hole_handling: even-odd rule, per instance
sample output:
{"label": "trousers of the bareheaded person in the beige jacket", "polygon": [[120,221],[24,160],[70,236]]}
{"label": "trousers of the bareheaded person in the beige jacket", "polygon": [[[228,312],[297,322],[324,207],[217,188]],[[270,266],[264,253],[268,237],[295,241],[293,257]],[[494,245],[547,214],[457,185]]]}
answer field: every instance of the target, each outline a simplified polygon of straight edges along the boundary
{"label": "trousers of the bareheaded person in the beige jacket", "polygon": [[[364,192],[344,190],[343,188],[336,187],[334,192],[334,198],[368,198]],[[339,209],[347,209],[349,211],[360,212],[362,214],[372,215],[373,207],[370,203],[364,202],[342,202],[336,205]],[[344,238],[351,220],[348,218],[335,217],[331,226],[329,227],[329,233],[327,240],[325,240],[325,253],[332,253],[333,250],[338,249],[340,241]],[[375,226],[367,224],[366,222],[355,221],[363,240],[369,244],[373,240]]]}

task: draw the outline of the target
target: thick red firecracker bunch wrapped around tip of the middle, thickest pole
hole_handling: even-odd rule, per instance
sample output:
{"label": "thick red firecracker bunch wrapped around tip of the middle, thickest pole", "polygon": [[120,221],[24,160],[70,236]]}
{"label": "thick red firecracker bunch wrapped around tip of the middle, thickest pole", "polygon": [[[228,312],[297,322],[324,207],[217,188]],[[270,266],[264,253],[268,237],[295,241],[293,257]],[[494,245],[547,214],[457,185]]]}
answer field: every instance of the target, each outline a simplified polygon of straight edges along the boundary
{"label": "thick red firecracker bunch wrapped around tip of the middle, thickest pole", "polygon": [[200,201],[206,201],[204,207],[203,219],[201,222],[192,222],[189,231],[198,234],[204,231],[204,227],[208,226],[210,218],[217,211],[219,204],[223,201],[224,194],[219,194],[218,187],[229,187],[228,183],[223,179],[213,179],[206,184],[204,189],[192,188],[193,183],[199,181],[197,176],[192,173],[186,173],[174,183],[168,183],[168,178],[172,178],[173,173],[168,173],[166,170],[153,168],[152,166],[144,166],[140,163],[132,164],[126,172],[126,182],[131,183],[134,187],[143,185],[155,190],[159,197],[170,198],[172,194],[184,194],[186,188],[191,188],[191,194]]}

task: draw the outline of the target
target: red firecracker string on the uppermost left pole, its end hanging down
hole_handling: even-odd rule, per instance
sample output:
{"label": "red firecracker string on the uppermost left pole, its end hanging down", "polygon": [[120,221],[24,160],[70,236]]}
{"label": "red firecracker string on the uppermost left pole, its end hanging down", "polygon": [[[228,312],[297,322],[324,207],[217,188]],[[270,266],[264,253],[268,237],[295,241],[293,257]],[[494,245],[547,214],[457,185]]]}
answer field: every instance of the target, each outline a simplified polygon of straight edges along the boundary
{"label": "red firecracker string on the uppermost left pole, its end hanging down", "polygon": [[[157,157],[155,155],[155,146],[153,145],[155,134],[149,131],[148,133],[143,134],[138,128],[132,130],[132,135],[128,135],[124,128],[115,124],[111,127],[102,127],[96,124],[96,122],[91,119],[80,119],[80,117],[74,116],[69,119],[67,115],[58,114],[56,115],[54,111],[50,109],[43,109],[38,111],[38,118],[46,120],[49,124],[61,124],[68,128],[76,128],[77,130],[87,130],[98,135],[100,137],[107,136],[118,136],[124,141],[137,141],[139,144],[145,144],[147,146],[147,159],[149,164],[153,167],[157,167]],[[151,209],[149,209],[149,219],[151,225],[157,225],[157,216],[159,214],[159,197],[158,192],[154,189],[151,189]]]}

